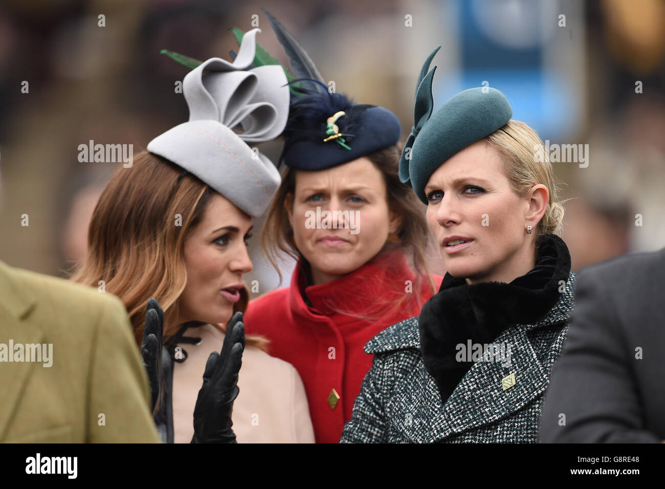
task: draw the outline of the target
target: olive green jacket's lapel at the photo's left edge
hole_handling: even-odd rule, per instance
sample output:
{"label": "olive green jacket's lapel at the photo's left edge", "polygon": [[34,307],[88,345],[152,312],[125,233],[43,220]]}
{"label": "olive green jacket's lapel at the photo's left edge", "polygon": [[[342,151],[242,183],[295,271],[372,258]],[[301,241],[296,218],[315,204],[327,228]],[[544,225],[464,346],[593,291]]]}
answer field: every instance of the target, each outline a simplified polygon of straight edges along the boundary
{"label": "olive green jacket's lapel at the photo's left edge", "polygon": [[[44,333],[27,321],[36,305],[35,298],[18,277],[0,262],[0,343],[7,345],[10,340],[17,345],[22,343],[42,343]],[[13,351],[8,351],[13,356]],[[41,366],[41,365],[40,365]],[[23,397],[23,387],[30,378],[35,362],[3,362],[0,365],[0,442],[5,439],[9,422],[15,408]]]}

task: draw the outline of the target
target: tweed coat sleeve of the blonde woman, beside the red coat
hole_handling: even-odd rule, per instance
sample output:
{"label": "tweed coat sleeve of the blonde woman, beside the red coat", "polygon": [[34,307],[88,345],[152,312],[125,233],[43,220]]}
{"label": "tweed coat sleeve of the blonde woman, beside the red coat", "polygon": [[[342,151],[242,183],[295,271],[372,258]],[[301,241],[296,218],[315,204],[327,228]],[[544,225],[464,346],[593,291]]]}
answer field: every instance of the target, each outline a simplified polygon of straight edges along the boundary
{"label": "tweed coat sleeve of the blonde woman, beside the red coat", "polygon": [[385,355],[374,355],[372,368],[365,375],[360,394],[353,405],[351,419],[344,425],[340,443],[385,443],[386,429],[383,390],[386,378]]}

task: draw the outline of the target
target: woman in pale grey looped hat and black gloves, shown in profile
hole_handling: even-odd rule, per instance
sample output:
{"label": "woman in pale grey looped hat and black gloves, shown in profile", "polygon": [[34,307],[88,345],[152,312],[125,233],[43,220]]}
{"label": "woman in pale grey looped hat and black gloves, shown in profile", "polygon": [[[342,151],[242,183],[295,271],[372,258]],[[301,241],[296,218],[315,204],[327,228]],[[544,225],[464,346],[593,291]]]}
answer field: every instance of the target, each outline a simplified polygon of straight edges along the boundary
{"label": "woman in pale grey looped hat and black gloves, shown in profile", "polygon": [[[248,336],[245,348],[241,323],[251,221],[279,185],[277,169],[246,142],[275,138],[289,100],[281,68],[243,71],[254,59],[257,31],[245,35],[234,63],[209,59],[185,77],[190,121],[118,168],[94,210],[88,255],[72,277],[124,302],[167,442],[233,442],[233,430],[240,442],[313,441],[297,371],[267,355],[265,339]],[[238,123],[241,134],[231,130]],[[162,328],[164,387],[156,367]],[[233,403],[236,382],[243,395]]]}

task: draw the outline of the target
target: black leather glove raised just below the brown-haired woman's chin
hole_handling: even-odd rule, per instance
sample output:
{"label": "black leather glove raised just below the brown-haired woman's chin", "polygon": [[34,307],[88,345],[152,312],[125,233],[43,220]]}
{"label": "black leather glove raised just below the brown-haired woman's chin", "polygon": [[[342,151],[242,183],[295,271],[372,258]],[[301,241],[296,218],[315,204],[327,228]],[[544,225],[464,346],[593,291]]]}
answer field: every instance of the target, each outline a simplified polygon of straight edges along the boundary
{"label": "black leather glove raised just below the brown-haired woman's chin", "polygon": [[233,401],[239,393],[238,372],[245,349],[243,313],[237,312],[226,327],[221,353],[213,351],[205,363],[203,386],[194,407],[192,443],[235,443],[231,426]]}

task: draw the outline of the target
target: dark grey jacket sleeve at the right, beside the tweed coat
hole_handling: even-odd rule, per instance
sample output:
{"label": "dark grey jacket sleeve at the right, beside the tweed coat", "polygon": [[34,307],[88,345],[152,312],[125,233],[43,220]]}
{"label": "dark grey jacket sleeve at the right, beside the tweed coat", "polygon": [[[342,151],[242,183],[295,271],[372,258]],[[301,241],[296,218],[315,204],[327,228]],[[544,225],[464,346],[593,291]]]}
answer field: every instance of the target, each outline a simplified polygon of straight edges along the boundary
{"label": "dark grey jacket sleeve at the right, beside the tweed coat", "polygon": [[660,442],[642,428],[633,345],[615,309],[620,276],[590,270],[577,279],[575,311],[540,419],[545,443]]}

